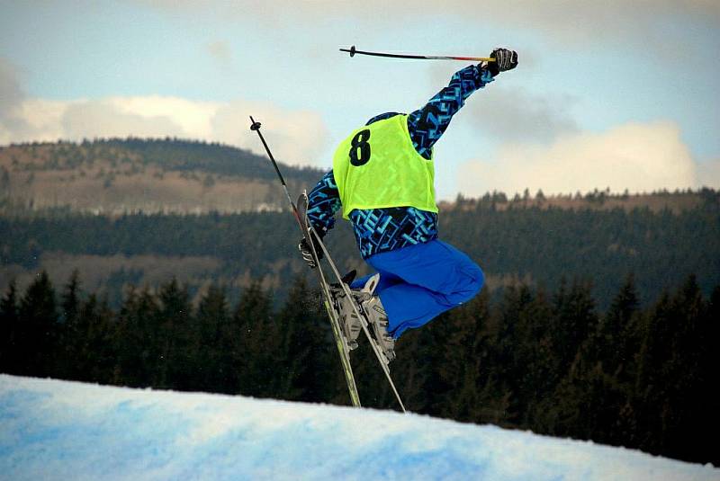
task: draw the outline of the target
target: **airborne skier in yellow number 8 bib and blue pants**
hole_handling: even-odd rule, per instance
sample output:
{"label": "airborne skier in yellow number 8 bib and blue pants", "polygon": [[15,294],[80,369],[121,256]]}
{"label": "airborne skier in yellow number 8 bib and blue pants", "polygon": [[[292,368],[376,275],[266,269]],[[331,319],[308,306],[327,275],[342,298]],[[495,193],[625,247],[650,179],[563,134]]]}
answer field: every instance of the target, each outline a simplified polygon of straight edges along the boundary
{"label": "airborne skier in yellow number 8 bib and blue pants", "polygon": [[[332,170],[309,195],[307,214],[319,236],[334,226],[342,207],[360,254],[377,272],[350,287],[388,361],[403,332],[463,304],[482,288],[481,268],[437,238],[433,146],[470,94],[518,66],[513,50],[495,49],[491,58],[496,61],[456,72],[418,111],[383,113],[355,129],[338,146]],[[316,267],[305,239],[298,247],[305,262]],[[319,246],[315,250],[322,254]],[[355,348],[361,325],[342,289],[334,295],[344,334]]]}

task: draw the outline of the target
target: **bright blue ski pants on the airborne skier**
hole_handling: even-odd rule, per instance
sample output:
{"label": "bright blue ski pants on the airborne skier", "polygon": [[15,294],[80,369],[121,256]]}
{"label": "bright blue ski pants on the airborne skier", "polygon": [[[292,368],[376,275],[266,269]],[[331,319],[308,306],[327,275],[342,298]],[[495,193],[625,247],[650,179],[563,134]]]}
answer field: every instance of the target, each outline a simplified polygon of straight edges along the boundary
{"label": "bright blue ski pants on the airborne skier", "polygon": [[[437,239],[374,254],[365,262],[380,273],[375,293],[395,339],[472,299],[485,281],[470,257]],[[362,288],[370,277],[357,279],[351,287]]]}

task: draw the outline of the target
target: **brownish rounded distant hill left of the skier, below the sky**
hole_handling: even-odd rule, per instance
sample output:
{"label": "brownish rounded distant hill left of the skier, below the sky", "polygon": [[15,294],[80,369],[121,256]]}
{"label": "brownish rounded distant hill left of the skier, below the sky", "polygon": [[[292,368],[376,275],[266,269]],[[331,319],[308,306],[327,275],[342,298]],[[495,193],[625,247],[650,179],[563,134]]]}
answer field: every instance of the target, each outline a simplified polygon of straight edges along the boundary
{"label": "brownish rounded distant hill left of the skier, below the sky", "polygon": [[[310,188],[322,174],[281,168],[293,192]],[[110,138],[0,147],[4,210],[245,212],[283,209],[284,201],[265,157],[218,143]]]}

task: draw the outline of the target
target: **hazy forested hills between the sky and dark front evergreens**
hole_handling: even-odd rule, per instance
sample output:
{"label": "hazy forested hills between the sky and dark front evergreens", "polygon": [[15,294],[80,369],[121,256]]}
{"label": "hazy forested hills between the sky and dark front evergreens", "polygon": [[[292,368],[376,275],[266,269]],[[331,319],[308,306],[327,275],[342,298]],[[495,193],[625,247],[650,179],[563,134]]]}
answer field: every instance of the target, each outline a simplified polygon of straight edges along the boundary
{"label": "hazy forested hills between the sky and dark front evergreens", "polygon": [[[282,168],[293,194],[321,174]],[[111,300],[128,284],[172,276],[193,293],[211,281],[234,289],[262,279],[282,297],[305,272],[286,209],[270,162],[234,147],[173,138],[0,147],[0,291],[42,269],[60,285],[78,269]],[[490,289],[518,280],[554,289],[581,277],[608,307],[629,273],[643,299],[692,273],[706,294],[720,282],[713,190],[492,192],[440,209],[440,236],[481,264]],[[347,223],[329,243],[340,265],[364,272]]]}

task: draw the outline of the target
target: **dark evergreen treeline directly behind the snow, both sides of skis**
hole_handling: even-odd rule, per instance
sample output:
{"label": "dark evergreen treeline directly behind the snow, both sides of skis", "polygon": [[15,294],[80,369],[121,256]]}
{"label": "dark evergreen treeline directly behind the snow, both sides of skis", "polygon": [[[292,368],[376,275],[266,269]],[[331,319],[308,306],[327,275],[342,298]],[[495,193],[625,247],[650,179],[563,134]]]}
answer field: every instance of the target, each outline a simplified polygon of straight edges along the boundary
{"label": "dark evergreen treeline directly behind the snow, both sides of skis", "polygon": [[[630,275],[599,311],[587,281],[518,284],[403,335],[393,377],[409,409],[720,464],[714,385],[720,287],[695,276],[641,304]],[[643,307],[645,306],[645,307]],[[129,289],[119,309],[74,274],[0,301],[0,370],[130,387],[347,404],[329,323],[298,278],[274,308],[257,283],[235,305],[212,285]],[[366,343],[353,357],[366,406],[395,408]]]}

